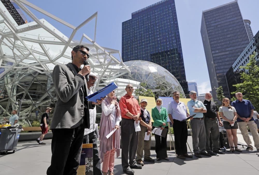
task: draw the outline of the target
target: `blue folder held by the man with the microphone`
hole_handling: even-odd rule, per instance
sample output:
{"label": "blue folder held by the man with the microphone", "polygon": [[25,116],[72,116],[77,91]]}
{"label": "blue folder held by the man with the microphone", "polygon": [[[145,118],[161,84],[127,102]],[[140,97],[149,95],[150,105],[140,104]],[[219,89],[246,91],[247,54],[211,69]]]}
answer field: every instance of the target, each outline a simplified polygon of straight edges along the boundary
{"label": "blue folder held by the man with the microphone", "polygon": [[100,100],[101,98],[105,97],[107,94],[109,94],[116,88],[118,88],[118,86],[114,82],[112,82],[109,85],[105,86],[104,88],[98,90],[97,92],[91,95],[88,95],[85,98],[87,98],[88,101],[97,102],[97,100]]}

